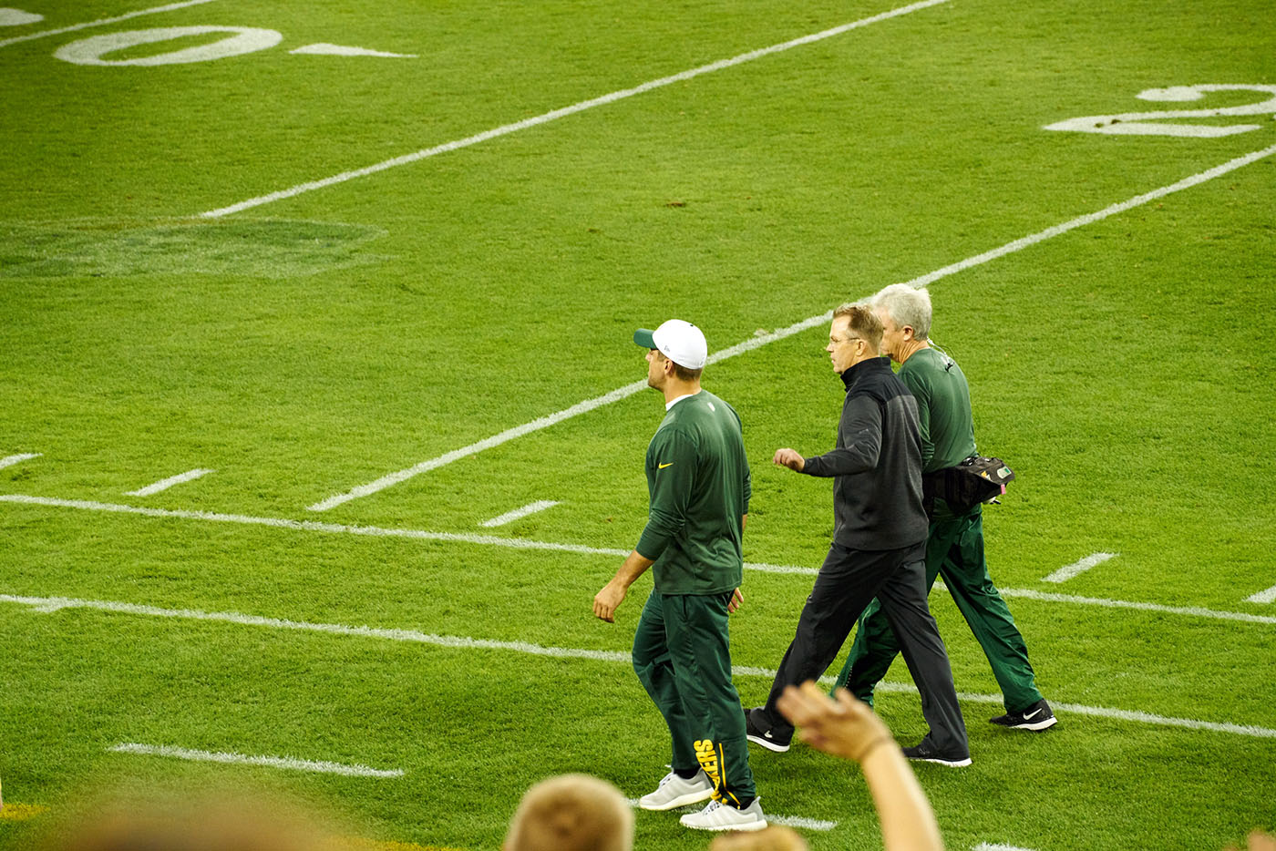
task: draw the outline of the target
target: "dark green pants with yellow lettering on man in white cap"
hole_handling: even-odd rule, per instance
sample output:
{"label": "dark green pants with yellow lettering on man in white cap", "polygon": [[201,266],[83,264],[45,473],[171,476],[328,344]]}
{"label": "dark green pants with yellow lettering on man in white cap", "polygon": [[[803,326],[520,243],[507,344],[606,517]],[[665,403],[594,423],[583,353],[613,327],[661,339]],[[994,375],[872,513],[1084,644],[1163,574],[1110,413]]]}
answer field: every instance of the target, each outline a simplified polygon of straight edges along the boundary
{"label": "dark green pants with yellow lettering on man in white cap", "polygon": [[731,683],[725,595],[651,592],[634,633],[634,671],[665,716],[675,769],[703,768],[713,797],[748,806],[757,796],[744,709]]}

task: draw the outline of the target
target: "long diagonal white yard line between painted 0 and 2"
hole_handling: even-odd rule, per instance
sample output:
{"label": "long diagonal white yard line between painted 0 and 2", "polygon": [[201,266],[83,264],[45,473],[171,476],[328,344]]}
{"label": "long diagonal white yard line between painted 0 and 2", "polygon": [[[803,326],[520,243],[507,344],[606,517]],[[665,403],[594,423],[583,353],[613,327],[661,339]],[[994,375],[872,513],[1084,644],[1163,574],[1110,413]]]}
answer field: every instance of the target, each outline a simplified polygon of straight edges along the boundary
{"label": "long diagonal white yard line between painted 0 and 2", "polygon": [[633,97],[634,94],[642,94],[652,89],[657,89],[671,83],[680,83],[683,80],[689,80],[692,78],[699,77],[702,74],[711,74],[713,71],[720,71],[723,68],[731,68],[734,65],[740,65],[743,63],[753,61],[754,59],[762,59],[763,56],[769,56],[771,54],[778,54],[792,47],[800,47],[803,45],[809,45],[817,41],[823,41],[824,38],[832,38],[833,36],[840,36],[843,32],[851,29],[857,29],[859,27],[866,27],[869,24],[875,24],[880,20],[887,20],[889,18],[898,18],[900,15],[906,15],[910,11],[917,11],[919,9],[926,9],[929,6],[937,6],[948,0],[921,0],[921,3],[912,3],[906,6],[900,6],[898,9],[891,9],[889,11],[883,11],[880,14],[873,15],[870,18],[861,18],[860,20],[852,20],[851,23],[842,24],[840,27],[833,27],[831,29],[824,29],[822,32],[812,33],[809,36],[801,36],[800,38],[794,38],[791,41],[782,42],[780,45],[771,45],[769,47],[762,47],[759,50],[752,50],[746,54],[740,54],[739,56],[732,56],[731,59],[720,59],[716,63],[709,63],[708,65],[701,65],[699,68],[693,68],[690,70],[679,71],[678,74],[670,74],[669,77],[661,77],[656,80],[648,80],[633,88],[620,89],[611,92],[610,94],[602,94],[600,97],[590,98],[588,101],[581,101],[579,103],[573,103],[572,106],[564,106],[558,110],[550,110],[549,112],[542,112],[541,115],[533,116],[531,119],[523,119],[522,121],[514,121],[513,124],[504,124],[499,128],[491,130],[485,130],[482,133],[476,133],[472,137],[466,137],[464,139],[456,139],[453,142],[445,142],[433,148],[425,148],[415,153],[403,154],[402,157],[394,157],[393,159],[385,159],[373,166],[366,166],[364,168],[355,168],[352,171],[343,171],[339,175],[333,175],[332,177],[324,177],[323,180],[314,180],[305,184],[297,184],[291,189],[281,189],[279,191],[271,193],[268,195],[260,195],[258,198],[250,198],[248,200],[240,202],[237,204],[231,204],[230,207],[222,207],[218,209],[211,209],[207,213],[200,213],[203,218],[219,218],[222,216],[230,216],[231,213],[239,213],[253,207],[260,207],[262,204],[269,204],[277,200],[283,200],[285,198],[292,198],[302,193],[313,191],[315,189],[324,189],[334,184],[341,184],[347,180],[353,180],[355,177],[366,177],[367,175],[375,175],[376,172],[385,171],[388,168],[396,168],[398,166],[406,166],[429,157],[438,156],[440,153],[447,153],[449,151],[457,151],[458,148],[467,148],[480,142],[486,142],[487,139],[495,139],[498,137],[507,135],[509,133],[517,133],[518,130],[526,130],[527,128],[535,128],[541,124],[547,124],[556,119],[565,117],[568,115],[575,115],[577,112],[583,112],[586,110],[592,110],[596,106],[605,106],[607,103],[615,103],[616,101],[623,101],[627,97]]}

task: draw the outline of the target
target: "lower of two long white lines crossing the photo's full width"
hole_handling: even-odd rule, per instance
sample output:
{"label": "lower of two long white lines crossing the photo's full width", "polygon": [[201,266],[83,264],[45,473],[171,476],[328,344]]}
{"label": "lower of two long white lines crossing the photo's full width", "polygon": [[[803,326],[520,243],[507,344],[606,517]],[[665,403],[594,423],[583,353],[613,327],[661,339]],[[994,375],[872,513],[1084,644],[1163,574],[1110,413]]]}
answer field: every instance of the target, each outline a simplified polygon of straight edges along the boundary
{"label": "lower of two long white lines crossing the photo's full width", "polygon": [[[346,624],[324,624],[299,620],[285,620],[279,618],[262,618],[258,615],[244,615],[235,611],[200,611],[194,609],[161,609],[158,606],[145,606],[139,603],[106,601],[106,600],[77,600],[74,597],[26,597],[17,595],[0,595],[0,602],[29,606],[37,612],[52,614],[65,609],[91,609],[97,611],[110,611],[124,615],[140,615],[152,618],[172,618],[181,620],[218,621],[242,626],[264,626],[268,629],[285,629],[295,632],[328,633],[334,635],[356,635],[360,638],[379,638],[396,642],[412,642],[419,644],[431,644],[450,649],[486,649],[508,651],[516,653],[530,653],[533,656],[549,656],[554,658],[584,658],[600,662],[614,662],[630,665],[629,653],[620,651],[598,651],[572,647],[546,647],[530,642],[503,642],[485,638],[471,638],[468,635],[435,635],[415,629],[379,629],[373,626],[350,626]],[[754,667],[750,665],[732,665],[731,674],[735,676],[760,676],[775,679],[772,669]],[[831,683],[829,677],[822,681]],[[884,693],[907,694],[916,693],[916,688],[905,683],[880,683],[878,690]],[[957,697],[971,703],[1002,704],[1000,694],[974,694],[958,692]],[[1079,703],[1054,703],[1050,704],[1057,711],[1073,712],[1100,718],[1116,721],[1132,721],[1168,727],[1184,727],[1188,730],[1206,730],[1211,732],[1228,732],[1259,739],[1276,739],[1276,730],[1258,727],[1253,725],[1220,723],[1213,721],[1198,721],[1196,718],[1175,718],[1170,716],[1154,714],[1129,709],[1113,709],[1109,707],[1092,707]]]}

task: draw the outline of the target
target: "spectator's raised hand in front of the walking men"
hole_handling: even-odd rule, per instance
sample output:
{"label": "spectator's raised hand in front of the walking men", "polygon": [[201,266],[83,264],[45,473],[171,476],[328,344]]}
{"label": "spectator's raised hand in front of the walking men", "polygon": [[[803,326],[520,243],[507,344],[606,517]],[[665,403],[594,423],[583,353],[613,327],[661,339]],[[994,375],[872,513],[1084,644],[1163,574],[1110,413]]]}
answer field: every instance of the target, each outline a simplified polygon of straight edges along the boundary
{"label": "spectator's raised hand in front of the walking men", "polygon": [[806,680],[800,689],[787,686],[777,706],[794,726],[801,727],[803,741],[835,757],[861,762],[878,745],[894,746],[882,720],[846,689],[838,689],[837,700],[832,700]]}

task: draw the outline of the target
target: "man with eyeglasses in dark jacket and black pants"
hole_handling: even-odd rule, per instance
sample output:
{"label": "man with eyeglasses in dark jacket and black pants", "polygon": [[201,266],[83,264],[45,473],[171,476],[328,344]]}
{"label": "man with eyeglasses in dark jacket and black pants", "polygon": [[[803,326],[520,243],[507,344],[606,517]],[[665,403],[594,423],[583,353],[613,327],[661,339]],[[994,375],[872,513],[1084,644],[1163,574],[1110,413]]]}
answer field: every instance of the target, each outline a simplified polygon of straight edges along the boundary
{"label": "man with eyeglasses in dark jacket and black pants", "polygon": [[917,402],[880,357],[882,322],[868,306],[833,311],[828,352],[846,385],[837,445],[804,458],[778,449],[775,463],[833,477],[833,542],[806,598],[766,706],[745,712],[749,741],[789,750],[794,727],[778,712],[787,685],[819,677],[856,619],[877,597],[921,693],[930,732],[905,754],[943,766],[970,764],[966,725],[939,628],[926,607],[926,513],[921,505]]}

